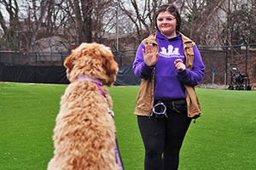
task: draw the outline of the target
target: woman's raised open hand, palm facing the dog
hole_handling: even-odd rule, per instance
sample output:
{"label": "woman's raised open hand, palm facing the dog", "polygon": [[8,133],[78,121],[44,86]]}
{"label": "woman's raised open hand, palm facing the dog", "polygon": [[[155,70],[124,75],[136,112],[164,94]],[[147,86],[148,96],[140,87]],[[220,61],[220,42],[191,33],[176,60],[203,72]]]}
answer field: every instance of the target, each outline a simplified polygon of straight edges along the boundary
{"label": "woman's raised open hand, palm facing the dog", "polygon": [[146,65],[154,66],[156,65],[158,54],[154,53],[154,48],[152,43],[148,43],[145,45],[145,49],[143,49],[143,59]]}

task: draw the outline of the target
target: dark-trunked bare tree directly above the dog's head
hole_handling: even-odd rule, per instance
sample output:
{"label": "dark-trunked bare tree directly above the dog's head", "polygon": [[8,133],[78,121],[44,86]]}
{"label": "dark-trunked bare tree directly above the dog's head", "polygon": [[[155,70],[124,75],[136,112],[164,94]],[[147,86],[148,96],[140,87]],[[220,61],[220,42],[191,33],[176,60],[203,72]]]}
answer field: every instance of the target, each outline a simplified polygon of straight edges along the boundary
{"label": "dark-trunked bare tree directly above the dog's head", "polygon": [[[108,8],[112,8],[111,4],[110,0],[67,0],[68,9],[65,13],[69,19],[68,23],[64,24],[68,26],[65,29],[73,37],[76,46],[81,42],[99,41],[99,37],[102,37],[102,33],[99,32],[105,30],[103,18],[109,13]],[[107,18],[107,20],[113,20],[113,18]],[[70,30],[73,27],[75,32]]]}

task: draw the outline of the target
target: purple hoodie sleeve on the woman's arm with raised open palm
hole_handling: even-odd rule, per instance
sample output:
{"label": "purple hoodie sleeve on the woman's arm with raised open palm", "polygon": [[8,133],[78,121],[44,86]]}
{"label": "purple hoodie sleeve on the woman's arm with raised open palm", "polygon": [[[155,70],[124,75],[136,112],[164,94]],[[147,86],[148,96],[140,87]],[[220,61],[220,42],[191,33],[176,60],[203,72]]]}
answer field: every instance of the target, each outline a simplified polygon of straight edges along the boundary
{"label": "purple hoodie sleeve on the woman's arm with raised open palm", "polygon": [[136,57],[134,59],[132,68],[133,68],[134,74],[137,77],[147,79],[152,75],[154,66],[148,66],[144,63],[143,49],[145,49],[145,46],[143,45],[143,43],[141,43],[137,48],[137,53],[136,53]]}

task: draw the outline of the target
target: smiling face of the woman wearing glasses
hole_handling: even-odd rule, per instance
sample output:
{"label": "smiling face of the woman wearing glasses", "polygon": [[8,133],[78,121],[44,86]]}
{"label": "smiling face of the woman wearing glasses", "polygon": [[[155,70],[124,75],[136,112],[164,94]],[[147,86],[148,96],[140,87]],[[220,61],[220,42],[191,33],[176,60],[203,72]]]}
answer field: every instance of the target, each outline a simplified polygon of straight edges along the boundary
{"label": "smiling face of the woman wearing glasses", "polygon": [[165,37],[176,37],[177,20],[170,12],[160,13],[156,18],[158,29]]}

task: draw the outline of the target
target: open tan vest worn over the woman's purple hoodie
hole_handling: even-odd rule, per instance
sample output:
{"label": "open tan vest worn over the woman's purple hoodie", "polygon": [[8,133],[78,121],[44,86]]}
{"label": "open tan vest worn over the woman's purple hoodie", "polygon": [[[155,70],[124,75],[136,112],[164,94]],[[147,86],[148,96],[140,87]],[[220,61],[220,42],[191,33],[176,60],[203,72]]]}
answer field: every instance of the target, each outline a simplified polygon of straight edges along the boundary
{"label": "open tan vest worn over the woman's purple hoodie", "polygon": [[[193,48],[195,46],[195,42],[189,39],[189,37],[185,37],[182,33],[180,33],[183,40],[183,50],[186,58],[186,68],[191,70],[193,68],[194,62],[194,52]],[[152,43],[154,47],[155,53],[159,52],[159,47],[157,42],[155,41],[156,35],[151,34],[147,38],[143,40],[143,44]],[[186,93],[186,101],[188,105],[188,116],[191,118],[197,118],[201,116],[201,106],[199,103],[199,99],[195,94],[195,88],[185,85],[185,93]],[[138,116],[152,116],[152,108],[154,105],[154,72],[152,77],[148,77],[147,79],[141,80],[141,85],[138,89],[137,94],[137,105],[135,108],[135,114]]]}

